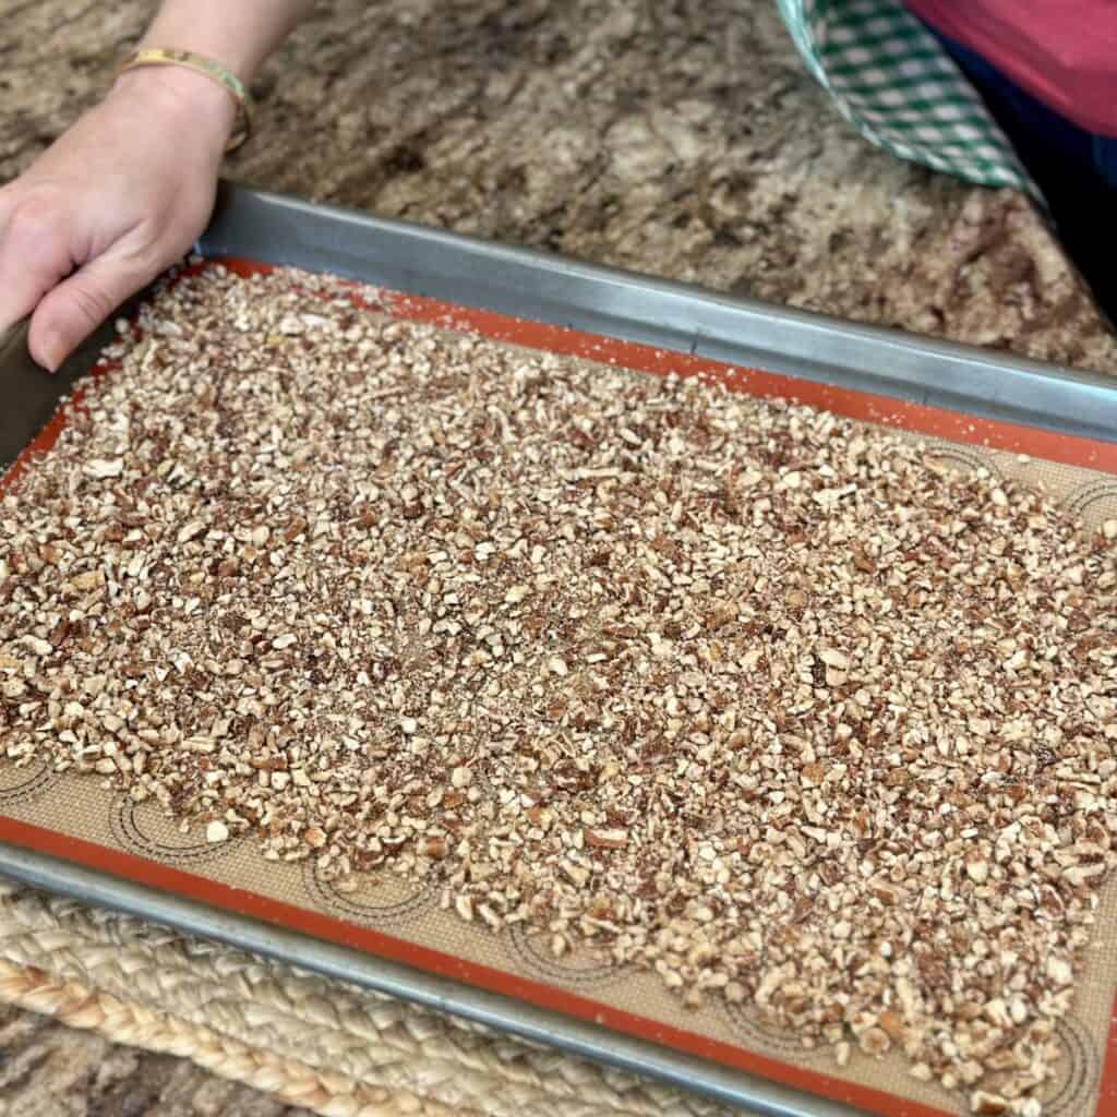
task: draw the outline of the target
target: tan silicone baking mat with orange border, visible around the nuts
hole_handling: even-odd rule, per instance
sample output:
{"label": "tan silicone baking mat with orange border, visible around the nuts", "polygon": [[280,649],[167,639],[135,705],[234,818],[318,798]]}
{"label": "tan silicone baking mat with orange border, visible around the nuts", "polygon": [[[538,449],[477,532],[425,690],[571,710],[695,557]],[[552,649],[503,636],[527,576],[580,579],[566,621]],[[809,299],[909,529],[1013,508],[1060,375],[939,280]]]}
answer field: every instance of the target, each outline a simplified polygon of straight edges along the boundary
{"label": "tan silicone baking mat with orange border, visible around the nuts", "polygon": [[[225,261],[241,273],[265,265]],[[1117,445],[980,419],[919,403],[742,369],[599,335],[384,292],[382,309],[440,328],[546,350],[570,361],[621,366],[643,374],[675,373],[724,383],[756,397],[800,402],[886,424],[926,442],[926,452],[962,469],[984,466],[1005,477],[1042,484],[1088,525],[1117,516]],[[105,373],[112,375],[109,366]],[[3,480],[35,468],[65,422],[59,412]],[[965,1111],[964,1098],[907,1073],[903,1056],[855,1053],[839,1068],[823,1048],[804,1050],[745,1005],[712,999],[685,1009],[655,974],[579,954],[553,958],[523,930],[493,933],[439,908],[433,889],[398,878],[366,878],[340,892],[311,862],[265,861],[251,839],[219,847],[198,832],[182,834],[152,802],[135,804],[89,776],[0,762],[0,841],[343,944],[379,957],[593,1021],[808,1094],[861,1110],[907,1117]],[[1117,881],[1102,894],[1096,945],[1078,980],[1075,1011],[1059,1024],[1063,1048],[1044,1092],[1052,1117],[1117,1113]]]}

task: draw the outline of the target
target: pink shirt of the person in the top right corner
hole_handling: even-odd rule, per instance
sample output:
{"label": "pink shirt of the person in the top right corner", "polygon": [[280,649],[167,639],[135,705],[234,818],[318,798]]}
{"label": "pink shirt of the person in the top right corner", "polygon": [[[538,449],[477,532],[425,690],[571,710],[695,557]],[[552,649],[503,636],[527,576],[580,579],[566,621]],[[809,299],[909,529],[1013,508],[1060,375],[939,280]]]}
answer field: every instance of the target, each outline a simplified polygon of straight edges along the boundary
{"label": "pink shirt of the person in the top right corner", "polygon": [[1079,127],[1117,136],[1117,0],[905,0]]}

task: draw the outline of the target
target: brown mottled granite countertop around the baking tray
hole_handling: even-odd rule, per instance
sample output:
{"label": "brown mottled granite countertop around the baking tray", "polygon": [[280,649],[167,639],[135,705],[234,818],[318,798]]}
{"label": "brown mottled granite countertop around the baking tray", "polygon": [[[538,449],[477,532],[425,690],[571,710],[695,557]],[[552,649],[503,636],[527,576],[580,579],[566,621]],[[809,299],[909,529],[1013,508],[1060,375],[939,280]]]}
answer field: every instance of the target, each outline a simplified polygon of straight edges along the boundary
{"label": "brown mottled granite countertop around the baking tray", "polygon": [[[96,99],[154,9],[6,7],[0,181]],[[771,0],[323,0],[257,93],[226,170],[242,182],[1117,373],[1117,338],[1029,204],[869,147]],[[202,1071],[104,1044],[51,1108],[36,1067],[101,1041],[28,1019],[0,1018],[0,1068],[13,1034],[47,1052],[9,1081],[12,1113],[125,1111],[105,1099],[145,1073],[173,1098],[127,1113],[218,1111]]]}

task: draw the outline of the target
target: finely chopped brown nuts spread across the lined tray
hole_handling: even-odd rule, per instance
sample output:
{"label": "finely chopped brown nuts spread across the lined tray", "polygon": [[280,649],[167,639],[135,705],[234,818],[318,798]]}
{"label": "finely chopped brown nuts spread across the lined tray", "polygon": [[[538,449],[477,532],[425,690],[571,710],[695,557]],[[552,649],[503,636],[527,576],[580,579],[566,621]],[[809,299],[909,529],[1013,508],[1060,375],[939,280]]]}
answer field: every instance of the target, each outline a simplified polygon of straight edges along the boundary
{"label": "finely chopped brown nuts spread across the lined tray", "polygon": [[1117,525],[353,293],[208,268],[122,325],[0,508],[7,756],[1038,1114],[1115,859]]}

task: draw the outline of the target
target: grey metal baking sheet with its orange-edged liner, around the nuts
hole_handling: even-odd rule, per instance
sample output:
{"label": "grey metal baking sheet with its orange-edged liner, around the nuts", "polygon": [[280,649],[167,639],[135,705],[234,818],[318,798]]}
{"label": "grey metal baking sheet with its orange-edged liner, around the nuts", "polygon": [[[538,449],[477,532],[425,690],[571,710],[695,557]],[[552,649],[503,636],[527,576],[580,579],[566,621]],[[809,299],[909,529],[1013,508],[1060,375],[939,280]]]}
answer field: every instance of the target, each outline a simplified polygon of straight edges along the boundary
{"label": "grey metal baking sheet with its orange-edged liner, around the nuts", "polygon": [[[201,246],[203,252],[328,268],[404,292],[388,302],[407,317],[646,372],[720,379],[753,394],[798,395],[860,419],[947,436],[952,448],[943,452],[966,459],[963,465],[1042,470],[1049,484],[1088,518],[1117,514],[1105,512],[1110,502],[1117,502],[1117,481],[1110,480],[1117,474],[1117,391],[1104,378],[735,303],[445,233],[323,212],[289,200],[240,191],[226,192],[222,198],[214,227]],[[430,297],[445,295],[448,286],[454,306]],[[509,311],[522,316],[531,312],[535,321],[514,319]],[[556,328],[567,325],[577,332]],[[605,325],[613,337],[628,343],[586,332]],[[735,337],[739,338],[736,343]],[[655,347],[648,346],[649,341]],[[808,350],[811,355],[803,355]],[[728,354],[732,360],[728,364],[712,360],[712,353]],[[773,372],[742,369],[756,365]],[[799,367],[808,370],[802,379],[781,375]],[[74,362],[67,376],[79,369],[80,362]],[[4,365],[0,376],[6,399],[41,399],[44,383],[55,391],[58,388],[26,360]],[[982,383],[989,395],[971,408],[974,385]],[[995,390],[990,389],[992,383]],[[861,391],[853,393],[850,386]],[[866,388],[872,392],[865,392]],[[945,410],[951,403],[958,407]],[[41,402],[36,407],[41,411]],[[1019,419],[1025,414],[1031,426],[1022,428]],[[4,429],[9,441],[0,445],[0,454],[11,457],[39,422],[41,416],[32,416],[22,435],[18,424],[10,423],[13,433]],[[1067,433],[1068,426],[1073,433]],[[1025,451],[1033,461],[1018,460]],[[1050,467],[1040,459],[1059,466]],[[493,944],[468,944],[458,957],[451,953],[452,946],[447,948],[448,944],[440,942],[440,933],[418,929],[411,918],[416,900],[409,896],[380,897],[354,910],[336,903],[336,897],[323,896],[297,868],[293,869],[297,879],[271,879],[255,889],[246,888],[245,873],[250,866],[239,862],[251,850],[242,848],[218,858],[203,848],[195,855],[189,841],[184,843],[170,828],[161,829],[155,812],[141,818],[122,810],[111,798],[96,809],[85,809],[90,805],[90,787],[92,782],[54,780],[49,773],[7,773],[0,787],[0,811],[6,814],[0,820],[0,836],[10,846],[0,856],[0,870],[191,930],[217,934],[238,945],[260,948],[262,938],[267,953],[314,968],[326,968],[328,958],[331,966],[344,965],[341,975],[375,987],[388,987],[376,982],[388,981],[384,975],[390,973],[394,983],[390,992],[424,1003],[431,1003],[430,996],[442,999],[440,1006],[475,1019],[481,1019],[478,1013],[483,1011],[496,1011],[499,1027],[659,1073],[762,1113],[829,1117],[858,1106],[890,1114],[898,1111],[897,1105],[913,1117],[956,1111],[955,1101],[933,1087],[920,1096],[914,1087],[906,1089],[901,1102],[894,1092],[880,1088],[887,1076],[881,1065],[871,1060],[857,1061],[839,1076],[827,1052],[796,1051],[782,1037],[758,1034],[755,1022],[699,1021],[651,985],[629,987],[619,996],[618,975],[555,973],[547,960],[533,960],[531,952],[525,957],[524,944],[513,944],[510,953],[504,955]],[[78,798],[83,801],[80,812],[69,805]],[[51,860],[50,855],[69,865]],[[133,885],[123,885],[122,879]],[[149,889],[154,886],[162,895],[136,890],[135,882]],[[236,915],[219,917],[198,907],[198,900]],[[1111,896],[1108,900],[1104,909],[1111,918],[1117,907]],[[213,919],[218,920],[216,929]],[[269,938],[268,930],[251,919],[288,929]],[[309,937],[292,936],[292,927]],[[297,951],[293,939],[298,943]],[[346,948],[344,963],[328,953],[330,943]],[[504,949],[507,944],[497,945]],[[357,953],[353,953],[354,947]],[[402,967],[381,968],[389,963],[378,963],[375,957],[439,976],[431,978]],[[1117,972],[1117,966],[1113,968]],[[428,983],[439,977],[446,984],[432,993]],[[448,978],[503,990],[505,997],[510,994],[515,1001],[488,997],[477,1002],[474,997],[483,994],[450,984]],[[1090,1019],[1079,1022],[1077,1032],[1075,1022],[1068,1023],[1066,1075],[1056,1083],[1050,1113],[1100,1115],[1108,1111],[1102,1104],[1117,1096],[1110,1081],[1115,1076],[1104,1067],[1106,1043],[1095,1039],[1099,1028],[1100,1034],[1106,1034],[1113,986],[1108,972],[1104,980],[1092,982],[1094,995],[1087,1006]],[[604,1022],[609,1030],[575,1023],[579,1018]],[[623,1038],[626,1033],[637,1039]],[[655,1041],[660,1046],[652,1046]],[[676,1050],[671,1052],[665,1044]],[[796,1096],[777,1085],[780,1081],[821,1097]]]}

